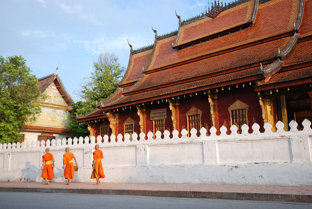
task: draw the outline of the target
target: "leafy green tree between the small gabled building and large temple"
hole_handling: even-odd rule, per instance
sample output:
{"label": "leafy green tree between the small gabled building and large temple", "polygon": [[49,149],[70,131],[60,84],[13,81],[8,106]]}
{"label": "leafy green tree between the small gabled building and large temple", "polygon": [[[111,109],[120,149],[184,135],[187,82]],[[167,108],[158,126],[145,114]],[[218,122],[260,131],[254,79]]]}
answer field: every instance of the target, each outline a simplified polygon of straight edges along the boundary
{"label": "leafy green tree between the small gabled building and large temple", "polygon": [[97,102],[101,102],[114,93],[124,72],[124,67],[118,62],[118,57],[110,52],[101,53],[98,60],[93,62],[93,69],[91,77],[84,78],[86,82],[82,85],[81,91],[76,93],[83,101],[76,102],[72,106],[74,113],[71,114],[69,122],[72,136],[90,134],[88,124],[76,122],[76,115],[82,116],[91,112],[95,109]]}

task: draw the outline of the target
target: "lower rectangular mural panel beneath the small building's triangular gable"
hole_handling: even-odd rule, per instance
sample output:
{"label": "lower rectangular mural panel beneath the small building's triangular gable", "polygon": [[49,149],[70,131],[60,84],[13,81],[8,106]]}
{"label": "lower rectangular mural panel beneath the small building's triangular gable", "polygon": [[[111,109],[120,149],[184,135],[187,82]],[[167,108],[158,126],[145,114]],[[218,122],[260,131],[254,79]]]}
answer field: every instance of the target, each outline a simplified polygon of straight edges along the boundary
{"label": "lower rectangular mural panel beneath the small building's triangular gable", "polygon": [[41,113],[37,116],[37,123],[53,126],[67,126],[69,112],[41,107]]}

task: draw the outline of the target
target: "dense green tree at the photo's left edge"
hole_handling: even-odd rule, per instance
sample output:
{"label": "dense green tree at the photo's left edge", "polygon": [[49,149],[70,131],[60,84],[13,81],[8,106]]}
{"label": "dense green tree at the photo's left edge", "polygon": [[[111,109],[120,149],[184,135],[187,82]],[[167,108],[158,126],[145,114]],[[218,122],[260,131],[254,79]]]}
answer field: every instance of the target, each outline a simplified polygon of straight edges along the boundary
{"label": "dense green tree at the photo's left edge", "polygon": [[0,143],[18,142],[26,123],[36,121],[41,108],[36,76],[22,56],[0,56]]}

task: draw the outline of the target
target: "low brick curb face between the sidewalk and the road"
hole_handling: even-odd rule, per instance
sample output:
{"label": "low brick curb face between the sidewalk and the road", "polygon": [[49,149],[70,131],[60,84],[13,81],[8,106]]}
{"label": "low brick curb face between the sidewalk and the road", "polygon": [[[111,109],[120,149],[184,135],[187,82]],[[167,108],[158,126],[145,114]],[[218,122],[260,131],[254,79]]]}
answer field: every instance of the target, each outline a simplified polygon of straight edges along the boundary
{"label": "low brick curb face between the sidewalk and the road", "polygon": [[186,197],[257,201],[310,202],[312,195],[304,194],[272,194],[242,192],[209,192],[209,191],[161,191],[161,190],[130,190],[130,189],[82,189],[82,188],[39,188],[39,187],[0,187],[0,191],[11,192],[46,192],[46,193],[79,193],[79,194],[111,194],[139,195],[159,197]]}

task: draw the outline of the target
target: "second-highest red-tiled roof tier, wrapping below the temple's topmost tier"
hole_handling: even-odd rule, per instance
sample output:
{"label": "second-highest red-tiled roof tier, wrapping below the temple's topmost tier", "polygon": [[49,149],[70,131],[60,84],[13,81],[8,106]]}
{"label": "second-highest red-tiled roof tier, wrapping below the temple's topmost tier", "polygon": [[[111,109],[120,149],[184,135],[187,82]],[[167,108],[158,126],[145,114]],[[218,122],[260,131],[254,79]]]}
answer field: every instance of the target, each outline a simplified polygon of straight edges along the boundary
{"label": "second-highest red-tiled roof tier, wrapping below the temple's topmost tier", "polygon": [[157,41],[152,61],[146,71],[293,31],[299,2],[272,0],[261,4],[254,26],[183,49],[172,48],[176,36]]}

